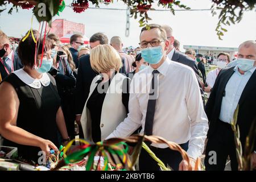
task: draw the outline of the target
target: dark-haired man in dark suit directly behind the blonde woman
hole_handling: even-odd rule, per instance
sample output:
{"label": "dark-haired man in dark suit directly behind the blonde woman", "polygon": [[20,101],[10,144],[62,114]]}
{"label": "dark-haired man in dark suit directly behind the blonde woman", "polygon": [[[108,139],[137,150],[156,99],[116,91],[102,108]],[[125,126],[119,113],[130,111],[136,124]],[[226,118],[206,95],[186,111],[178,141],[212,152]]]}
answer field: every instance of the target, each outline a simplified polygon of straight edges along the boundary
{"label": "dark-haired man in dark suit directly behind the blonde woman", "polygon": [[[90,48],[100,44],[108,44],[108,37],[98,32],[90,37]],[[81,56],[79,59],[79,69],[76,80],[76,122],[80,124],[82,110],[90,92],[90,84],[97,73],[90,65],[90,55]]]}

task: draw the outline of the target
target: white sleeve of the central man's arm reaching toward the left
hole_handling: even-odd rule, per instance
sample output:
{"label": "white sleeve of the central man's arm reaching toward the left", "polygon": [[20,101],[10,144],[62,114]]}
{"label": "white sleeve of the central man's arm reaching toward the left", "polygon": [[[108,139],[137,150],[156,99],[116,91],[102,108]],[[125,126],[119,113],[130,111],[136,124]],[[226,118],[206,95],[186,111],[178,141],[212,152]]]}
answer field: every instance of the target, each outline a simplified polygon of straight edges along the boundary
{"label": "white sleeve of the central man's arm reaching toward the left", "polygon": [[129,97],[129,113],[125,120],[121,122],[117,128],[110,134],[106,139],[118,138],[118,137],[129,137],[134,133],[135,130],[141,126],[142,113],[139,107],[139,101],[134,93],[134,78],[131,81],[131,93]]}

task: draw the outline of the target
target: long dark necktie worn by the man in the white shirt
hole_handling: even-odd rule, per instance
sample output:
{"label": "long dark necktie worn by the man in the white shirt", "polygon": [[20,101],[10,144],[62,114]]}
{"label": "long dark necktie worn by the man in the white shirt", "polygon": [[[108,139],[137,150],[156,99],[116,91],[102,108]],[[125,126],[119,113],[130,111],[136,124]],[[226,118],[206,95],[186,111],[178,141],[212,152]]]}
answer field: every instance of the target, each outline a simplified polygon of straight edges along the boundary
{"label": "long dark necktie worn by the man in the white shirt", "polygon": [[157,70],[152,72],[153,77],[151,81],[150,94],[148,96],[147,113],[144,126],[144,134],[148,136],[152,135],[153,130],[155,103],[158,98],[158,74],[159,71]]}

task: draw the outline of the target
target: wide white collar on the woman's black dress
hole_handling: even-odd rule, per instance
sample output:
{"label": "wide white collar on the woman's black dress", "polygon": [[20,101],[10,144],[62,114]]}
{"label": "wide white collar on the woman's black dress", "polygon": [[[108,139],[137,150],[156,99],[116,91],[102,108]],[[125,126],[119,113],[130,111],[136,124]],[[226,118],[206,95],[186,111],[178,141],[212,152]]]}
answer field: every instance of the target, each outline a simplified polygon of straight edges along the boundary
{"label": "wide white collar on the woman's black dress", "polygon": [[41,84],[43,86],[48,86],[51,82],[47,73],[43,73],[43,76],[40,79],[32,78],[23,69],[19,69],[19,70],[13,72],[13,73],[16,76],[18,76],[20,78],[20,80],[22,80],[25,84],[27,84],[28,86],[31,86],[32,88],[35,88],[35,89],[40,89]]}

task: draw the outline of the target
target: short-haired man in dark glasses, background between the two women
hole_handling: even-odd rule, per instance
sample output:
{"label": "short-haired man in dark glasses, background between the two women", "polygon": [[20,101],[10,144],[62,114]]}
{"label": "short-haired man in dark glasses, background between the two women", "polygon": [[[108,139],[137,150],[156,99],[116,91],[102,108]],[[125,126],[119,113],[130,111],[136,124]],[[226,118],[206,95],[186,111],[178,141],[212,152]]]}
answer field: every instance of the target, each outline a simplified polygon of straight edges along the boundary
{"label": "short-haired man in dark glasses, background between the two women", "polygon": [[80,34],[74,34],[70,38],[70,48],[69,51],[72,53],[73,61],[76,65],[76,68],[79,67],[79,60],[77,59],[79,49],[84,46],[84,40],[82,35]]}

